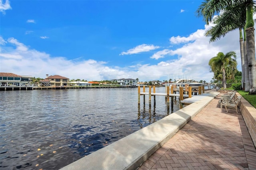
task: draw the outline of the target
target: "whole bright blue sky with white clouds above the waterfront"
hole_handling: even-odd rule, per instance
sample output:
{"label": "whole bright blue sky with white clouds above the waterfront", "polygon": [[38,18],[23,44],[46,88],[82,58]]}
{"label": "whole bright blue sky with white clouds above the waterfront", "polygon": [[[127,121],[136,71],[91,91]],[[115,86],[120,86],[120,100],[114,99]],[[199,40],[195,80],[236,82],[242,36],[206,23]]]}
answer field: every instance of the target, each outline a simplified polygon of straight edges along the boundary
{"label": "whole bright blue sky with white clouds above the waterfront", "polygon": [[192,78],[236,51],[239,32],[209,43],[202,0],[0,0],[0,71],[88,81]]}

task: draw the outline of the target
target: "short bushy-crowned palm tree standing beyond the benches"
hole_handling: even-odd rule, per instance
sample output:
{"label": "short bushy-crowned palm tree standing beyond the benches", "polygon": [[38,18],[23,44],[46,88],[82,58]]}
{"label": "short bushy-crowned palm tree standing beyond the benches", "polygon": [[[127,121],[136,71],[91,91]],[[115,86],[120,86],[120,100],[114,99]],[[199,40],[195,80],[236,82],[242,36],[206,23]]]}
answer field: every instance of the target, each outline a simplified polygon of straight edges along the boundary
{"label": "short bushy-crowned palm tree standing beyond the benches", "polygon": [[[236,69],[236,53],[230,51],[224,55],[224,53],[219,52],[217,56],[212,57],[209,61],[211,71],[214,72],[214,77],[216,79],[222,78],[223,88],[226,89],[226,76],[232,76],[234,74],[234,69]],[[222,72],[222,77],[220,76]]]}

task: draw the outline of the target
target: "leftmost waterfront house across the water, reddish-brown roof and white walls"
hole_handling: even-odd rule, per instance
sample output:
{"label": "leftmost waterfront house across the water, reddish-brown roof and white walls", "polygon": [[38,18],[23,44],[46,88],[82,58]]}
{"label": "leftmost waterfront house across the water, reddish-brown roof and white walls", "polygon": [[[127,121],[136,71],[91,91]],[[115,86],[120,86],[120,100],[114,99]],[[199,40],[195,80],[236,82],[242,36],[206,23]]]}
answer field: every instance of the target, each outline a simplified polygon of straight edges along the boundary
{"label": "leftmost waterfront house across the water, reddish-brown roof and white walls", "polygon": [[1,86],[31,86],[30,75],[17,75],[14,73],[0,73]]}

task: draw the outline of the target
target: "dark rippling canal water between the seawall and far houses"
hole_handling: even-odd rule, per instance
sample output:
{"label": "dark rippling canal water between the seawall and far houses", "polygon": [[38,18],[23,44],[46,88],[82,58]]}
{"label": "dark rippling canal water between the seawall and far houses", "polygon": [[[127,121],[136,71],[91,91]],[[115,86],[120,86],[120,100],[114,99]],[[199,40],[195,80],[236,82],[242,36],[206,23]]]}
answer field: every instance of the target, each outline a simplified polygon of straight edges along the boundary
{"label": "dark rippling canal water between the seawall and far houses", "polygon": [[137,88],[0,91],[0,169],[62,168],[179,109],[140,101]]}

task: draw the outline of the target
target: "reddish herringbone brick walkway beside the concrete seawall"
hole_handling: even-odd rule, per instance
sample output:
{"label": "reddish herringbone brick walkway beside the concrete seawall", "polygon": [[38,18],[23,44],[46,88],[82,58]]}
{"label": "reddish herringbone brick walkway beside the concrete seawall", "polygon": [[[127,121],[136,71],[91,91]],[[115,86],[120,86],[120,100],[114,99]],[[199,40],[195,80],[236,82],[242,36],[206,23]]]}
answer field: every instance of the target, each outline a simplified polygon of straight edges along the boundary
{"label": "reddish herringbone brick walkway beside the concrete seawall", "polygon": [[234,110],[226,114],[225,109],[220,109],[220,95],[138,170],[255,170],[256,150],[242,115]]}

